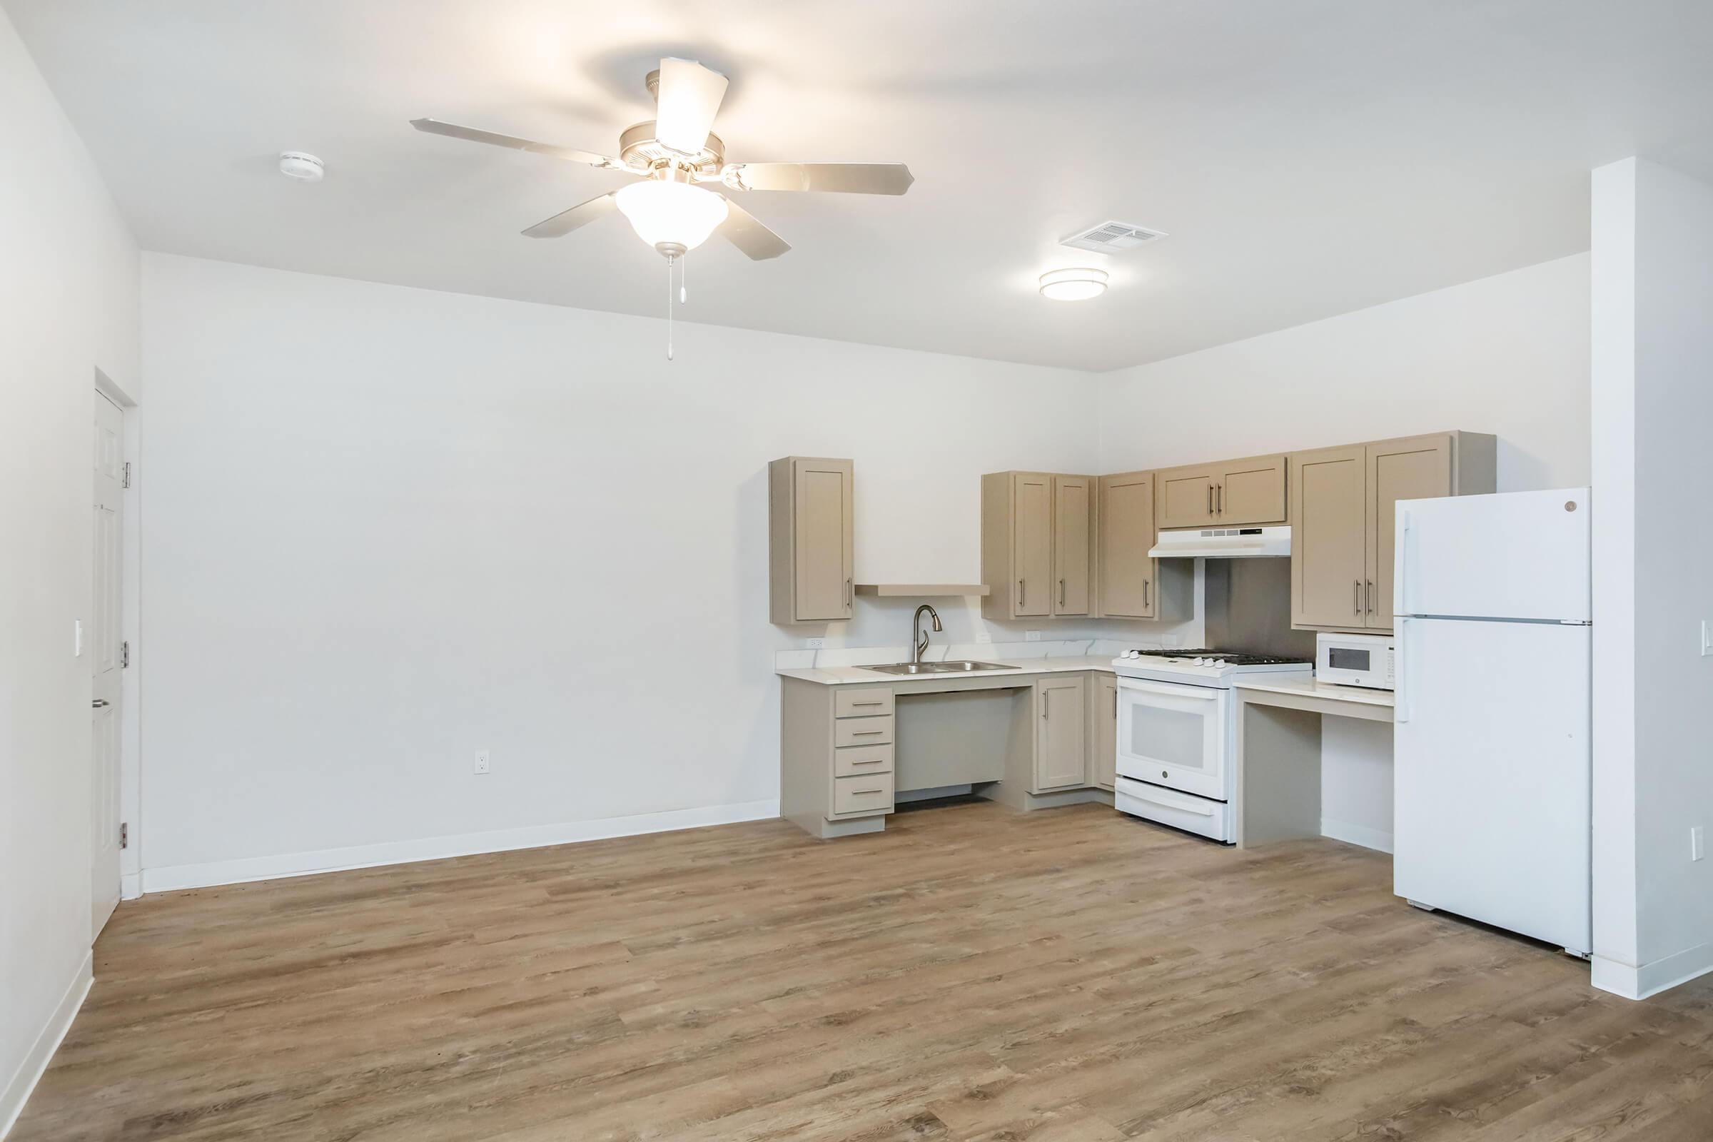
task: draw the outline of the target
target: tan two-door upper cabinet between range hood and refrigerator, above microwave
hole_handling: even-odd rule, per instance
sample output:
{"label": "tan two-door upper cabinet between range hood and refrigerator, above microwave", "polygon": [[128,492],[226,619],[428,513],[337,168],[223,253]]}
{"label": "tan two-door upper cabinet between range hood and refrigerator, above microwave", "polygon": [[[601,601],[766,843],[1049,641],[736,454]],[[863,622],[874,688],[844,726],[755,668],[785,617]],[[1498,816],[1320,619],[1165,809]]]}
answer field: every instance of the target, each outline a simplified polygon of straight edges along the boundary
{"label": "tan two-door upper cabinet between range hood and refrigerator, above microwave", "polygon": [[1444,431],[1292,454],[1292,625],[1389,632],[1398,500],[1494,491],[1495,450]]}

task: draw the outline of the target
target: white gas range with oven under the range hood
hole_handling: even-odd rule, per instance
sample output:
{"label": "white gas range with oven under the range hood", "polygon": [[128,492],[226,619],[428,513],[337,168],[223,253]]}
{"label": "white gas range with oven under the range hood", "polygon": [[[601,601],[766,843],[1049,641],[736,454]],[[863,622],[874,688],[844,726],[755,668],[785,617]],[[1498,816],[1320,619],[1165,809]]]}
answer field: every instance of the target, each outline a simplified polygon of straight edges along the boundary
{"label": "white gas range with oven under the range hood", "polygon": [[1127,651],[1119,675],[1119,777],[1122,813],[1237,841],[1237,676],[1310,678],[1307,659],[1235,651]]}

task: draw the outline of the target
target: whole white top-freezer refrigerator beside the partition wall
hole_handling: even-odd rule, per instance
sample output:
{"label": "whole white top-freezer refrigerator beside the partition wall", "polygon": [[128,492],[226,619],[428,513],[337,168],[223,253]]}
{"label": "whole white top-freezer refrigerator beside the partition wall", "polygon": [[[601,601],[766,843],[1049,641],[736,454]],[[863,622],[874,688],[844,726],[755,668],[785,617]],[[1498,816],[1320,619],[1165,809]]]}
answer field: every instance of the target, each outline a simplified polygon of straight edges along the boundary
{"label": "whole white top-freezer refrigerator beside the partition wall", "polygon": [[1588,488],[1400,500],[1393,890],[1591,949]]}

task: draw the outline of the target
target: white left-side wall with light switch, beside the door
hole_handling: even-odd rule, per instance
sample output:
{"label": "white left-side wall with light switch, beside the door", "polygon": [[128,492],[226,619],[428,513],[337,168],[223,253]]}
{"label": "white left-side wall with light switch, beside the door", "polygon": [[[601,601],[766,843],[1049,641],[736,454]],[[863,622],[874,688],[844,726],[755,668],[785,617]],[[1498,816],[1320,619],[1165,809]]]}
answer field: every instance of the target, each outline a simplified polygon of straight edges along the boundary
{"label": "white left-side wall with light switch, beside the door", "polygon": [[91,418],[135,396],[137,247],[0,12],[0,1132],[89,981]]}

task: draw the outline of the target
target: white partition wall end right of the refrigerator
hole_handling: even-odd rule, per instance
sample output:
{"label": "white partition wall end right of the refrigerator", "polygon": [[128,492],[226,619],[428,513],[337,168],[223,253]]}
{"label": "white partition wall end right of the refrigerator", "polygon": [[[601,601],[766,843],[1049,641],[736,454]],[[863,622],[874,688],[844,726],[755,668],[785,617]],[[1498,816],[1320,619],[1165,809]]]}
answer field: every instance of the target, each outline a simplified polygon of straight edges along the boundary
{"label": "white partition wall end right of the refrigerator", "polygon": [[1713,187],[1595,171],[1595,983],[1713,969]]}

